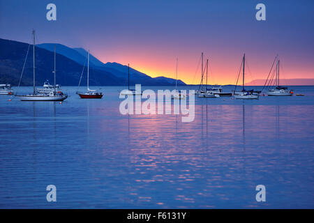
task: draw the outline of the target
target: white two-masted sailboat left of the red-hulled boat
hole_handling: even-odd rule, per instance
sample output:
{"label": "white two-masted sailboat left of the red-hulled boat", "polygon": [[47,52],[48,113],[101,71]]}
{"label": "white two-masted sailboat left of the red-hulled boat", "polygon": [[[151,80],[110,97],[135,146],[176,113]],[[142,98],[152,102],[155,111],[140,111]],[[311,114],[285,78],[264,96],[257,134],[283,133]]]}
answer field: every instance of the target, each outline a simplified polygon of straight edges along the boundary
{"label": "white two-masted sailboat left of the red-hulled boat", "polygon": [[63,101],[68,95],[56,91],[56,47],[54,47],[54,91],[38,93],[35,86],[35,30],[33,30],[33,93],[28,95],[16,95],[21,101]]}

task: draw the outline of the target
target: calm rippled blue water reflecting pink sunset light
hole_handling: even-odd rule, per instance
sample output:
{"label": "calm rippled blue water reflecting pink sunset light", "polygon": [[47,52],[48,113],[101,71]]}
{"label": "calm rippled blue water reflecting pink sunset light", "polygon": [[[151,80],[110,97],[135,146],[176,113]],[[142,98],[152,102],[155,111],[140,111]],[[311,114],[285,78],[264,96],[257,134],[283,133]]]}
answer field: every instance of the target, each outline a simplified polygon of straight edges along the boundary
{"label": "calm rippled blue water reflecting pink sunset light", "polygon": [[314,86],[293,87],[304,97],[195,98],[191,123],[123,116],[119,89],[82,100],[64,86],[62,104],[1,95],[0,208],[314,208]]}

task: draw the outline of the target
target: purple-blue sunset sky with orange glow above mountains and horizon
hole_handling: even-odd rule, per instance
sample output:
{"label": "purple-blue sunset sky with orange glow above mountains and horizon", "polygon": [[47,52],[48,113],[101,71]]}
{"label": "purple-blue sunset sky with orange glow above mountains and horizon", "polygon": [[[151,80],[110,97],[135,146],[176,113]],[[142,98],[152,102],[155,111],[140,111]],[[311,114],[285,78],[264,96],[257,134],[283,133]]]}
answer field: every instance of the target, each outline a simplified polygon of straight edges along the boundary
{"label": "purple-blue sunset sky with orange glow above mountains and horizon", "polygon": [[[48,3],[57,21],[46,20]],[[266,5],[266,21],[255,19],[257,3]],[[211,84],[234,84],[244,52],[247,82],[266,78],[276,54],[282,78],[314,78],[312,0],[0,0],[0,38],[31,43],[31,29],[37,43],[84,47],[151,77],[175,78],[178,57],[188,84],[200,82],[201,52]]]}

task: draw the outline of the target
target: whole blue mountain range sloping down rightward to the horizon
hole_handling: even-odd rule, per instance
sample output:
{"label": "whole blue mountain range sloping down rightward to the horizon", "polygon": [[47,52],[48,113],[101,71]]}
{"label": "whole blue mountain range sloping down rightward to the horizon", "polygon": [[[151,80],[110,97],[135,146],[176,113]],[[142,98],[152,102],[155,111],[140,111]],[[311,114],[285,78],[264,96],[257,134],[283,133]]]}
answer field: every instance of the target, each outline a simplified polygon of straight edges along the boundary
{"label": "whole blue mountain range sloping down rightward to the horizon", "polygon": [[[52,72],[54,70],[54,45],[57,49],[57,84],[76,86],[80,80],[86,57],[76,49],[60,44],[45,44],[40,45],[40,47],[36,45],[36,86],[43,85],[46,79],[49,79],[50,82],[54,79]],[[10,83],[13,86],[18,84],[28,47],[29,54],[21,80],[22,86],[33,85],[33,45],[0,38],[0,83]],[[81,52],[84,54],[85,51],[83,50]],[[125,70],[121,71],[121,68],[125,69],[126,66],[117,63],[118,69],[115,69],[114,66],[105,66],[104,63],[97,61],[96,58],[90,61],[89,83],[91,85],[118,86],[128,84],[128,74],[124,72]],[[87,69],[85,68],[81,86],[87,84],[86,72]],[[132,85],[172,85],[175,83],[174,79],[152,78],[133,69],[131,69],[130,77],[130,84]]]}

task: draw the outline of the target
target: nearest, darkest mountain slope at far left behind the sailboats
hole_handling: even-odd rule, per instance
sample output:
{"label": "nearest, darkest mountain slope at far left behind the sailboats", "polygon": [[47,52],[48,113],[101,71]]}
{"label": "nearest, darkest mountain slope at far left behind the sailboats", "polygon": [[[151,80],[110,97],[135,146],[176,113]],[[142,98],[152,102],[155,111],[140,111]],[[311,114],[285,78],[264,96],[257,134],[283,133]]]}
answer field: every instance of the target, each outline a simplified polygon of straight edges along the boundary
{"label": "nearest, darkest mountain slope at far left behind the sailboats", "polygon": [[[0,39],[0,82],[17,85],[22,72],[22,67],[29,44],[13,40]],[[36,52],[36,85],[43,85],[46,79],[54,79],[54,53],[40,47],[35,47]],[[75,86],[80,80],[83,66],[66,56],[56,54],[57,83]],[[91,85],[118,85],[121,79],[110,72],[91,69],[89,82]],[[86,76],[85,76],[86,77]],[[82,79],[86,84],[86,78]],[[24,68],[21,85],[33,85],[33,45],[30,45],[27,62]]]}

